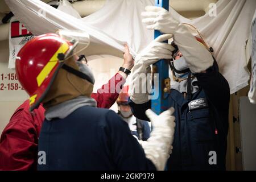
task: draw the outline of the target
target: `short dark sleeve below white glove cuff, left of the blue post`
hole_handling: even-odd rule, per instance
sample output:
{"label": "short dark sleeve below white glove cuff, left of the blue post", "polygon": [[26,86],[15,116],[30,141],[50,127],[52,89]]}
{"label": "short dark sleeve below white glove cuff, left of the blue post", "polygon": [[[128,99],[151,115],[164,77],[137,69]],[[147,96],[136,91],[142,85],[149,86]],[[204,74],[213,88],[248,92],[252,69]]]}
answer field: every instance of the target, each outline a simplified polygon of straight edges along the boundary
{"label": "short dark sleeve below white glove cuff, left of the blue post", "polygon": [[128,104],[131,106],[131,111],[136,118],[144,121],[150,121],[145,112],[146,110],[151,109],[151,101],[148,101],[144,104],[135,104],[129,97]]}

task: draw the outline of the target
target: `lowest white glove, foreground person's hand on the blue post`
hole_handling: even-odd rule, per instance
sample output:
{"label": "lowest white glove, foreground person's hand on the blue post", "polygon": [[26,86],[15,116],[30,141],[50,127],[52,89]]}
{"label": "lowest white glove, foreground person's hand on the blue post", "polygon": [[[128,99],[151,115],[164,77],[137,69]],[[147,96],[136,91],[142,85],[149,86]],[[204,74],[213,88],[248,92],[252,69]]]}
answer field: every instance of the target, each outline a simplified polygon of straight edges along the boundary
{"label": "lowest white glove, foreground person's hand on the blue post", "polygon": [[156,115],[151,109],[146,111],[147,117],[152,122],[152,132],[147,141],[139,141],[146,158],[150,159],[158,171],[163,171],[166,162],[172,152],[172,142],[174,140],[175,117],[172,115],[174,108]]}

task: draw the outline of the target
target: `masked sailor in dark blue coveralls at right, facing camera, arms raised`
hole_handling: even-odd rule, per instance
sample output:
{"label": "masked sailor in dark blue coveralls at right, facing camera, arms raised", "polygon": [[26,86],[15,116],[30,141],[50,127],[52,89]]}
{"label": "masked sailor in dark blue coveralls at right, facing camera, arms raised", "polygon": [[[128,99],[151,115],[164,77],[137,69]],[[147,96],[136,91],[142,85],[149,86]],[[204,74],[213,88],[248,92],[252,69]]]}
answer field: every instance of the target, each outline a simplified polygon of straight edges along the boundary
{"label": "masked sailor in dark blue coveralls at right, facing camera, arms raised", "polygon": [[[168,170],[225,170],[230,90],[211,54],[213,49],[160,7],[146,7],[142,15],[147,28],[174,36],[172,59],[166,56],[171,59],[172,75],[168,102],[175,108],[176,118]],[[146,72],[158,61],[159,48],[154,52],[151,47],[151,52],[135,59],[135,73]],[[134,92],[141,86],[137,83],[133,77],[129,104],[135,117],[148,121],[144,111],[151,108],[151,101],[145,94]]]}

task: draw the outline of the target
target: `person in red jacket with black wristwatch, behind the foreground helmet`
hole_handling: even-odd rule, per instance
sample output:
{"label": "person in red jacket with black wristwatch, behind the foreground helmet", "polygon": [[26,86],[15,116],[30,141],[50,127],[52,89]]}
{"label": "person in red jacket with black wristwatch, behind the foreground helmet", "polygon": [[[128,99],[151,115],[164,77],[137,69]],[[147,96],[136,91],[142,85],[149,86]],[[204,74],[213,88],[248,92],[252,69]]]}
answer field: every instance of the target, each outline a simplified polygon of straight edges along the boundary
{"label": "person in red jacket with black wristwatch, behind the foreground helmet", "polygon": [[[40,47],[35,47],[40,48]],[[34,50],[35,50],[34,49]],[[42,48],[43,49],[43,48]],[[31,51],[34,51],[31,50]],[[87,63],[84,55],[75,56],[75,59]],[[129,53],[129,48],[125,45],[123,54],[122,69],[129,71],[133,68],[134,60]],[[121,70],[122,70],[121,69]],[[91,97],[97,102],[97,107],[109,109],[118,98],[118,90],[114,93],[102,92],[110,90],[110,83],[113,86],[125,84],[129,72],[118,71],[108,83],[102,85],[97,93],[92,93]],[[26,79],[30,82],[28,76]],[[26,100],[15,110],[2,132],[0,138],[0,170],[35,170],[38,156],[38,138],[40,129],[44,121],[45,109],[42,104],[30,112],[30,101]]]}

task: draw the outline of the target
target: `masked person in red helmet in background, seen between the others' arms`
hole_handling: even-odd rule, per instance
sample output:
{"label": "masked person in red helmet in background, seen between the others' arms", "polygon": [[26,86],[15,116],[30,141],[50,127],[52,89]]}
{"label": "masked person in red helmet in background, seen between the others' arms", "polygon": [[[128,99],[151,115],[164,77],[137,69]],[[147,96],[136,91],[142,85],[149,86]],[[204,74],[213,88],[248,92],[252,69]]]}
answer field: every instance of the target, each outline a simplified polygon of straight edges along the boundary
{"label": "masked person in red helmet in background, seen between the others' arms", "polygon": [[126,121],[131,130],[131,134],[139,140],[146,141],[150,137],[150,125],[147,121],[135,118],[131,107],[128,104],[129,86],[124,86],[119,97],[117,98],[118,114]]}

